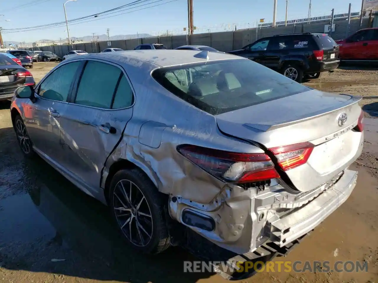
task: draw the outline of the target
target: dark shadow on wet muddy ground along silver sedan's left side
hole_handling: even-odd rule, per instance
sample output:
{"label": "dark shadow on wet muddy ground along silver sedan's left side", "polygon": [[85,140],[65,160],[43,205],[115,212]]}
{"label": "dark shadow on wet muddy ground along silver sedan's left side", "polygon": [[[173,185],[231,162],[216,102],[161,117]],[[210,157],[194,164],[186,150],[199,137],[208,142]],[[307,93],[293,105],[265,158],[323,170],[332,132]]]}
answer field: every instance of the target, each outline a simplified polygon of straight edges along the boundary
{"label": "dark shadow on wet muddy ground along silver sedan's left side", "polygon": [[0,152],[6,160],[0,166],[0,266],[4,270],[121,282],[166,283],[180,278],[192,283],[213,275],[184,273],[184,261],[198,259],[180,247],[157,255],[129,248],[106,206],[42,158],[23,157],[13,128],[0,129]]}

